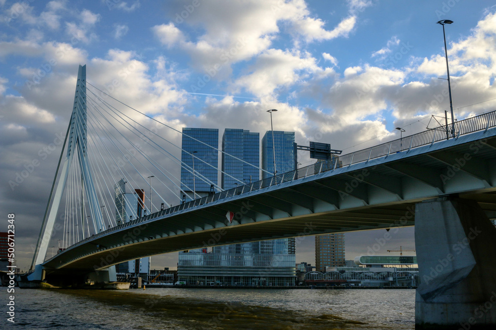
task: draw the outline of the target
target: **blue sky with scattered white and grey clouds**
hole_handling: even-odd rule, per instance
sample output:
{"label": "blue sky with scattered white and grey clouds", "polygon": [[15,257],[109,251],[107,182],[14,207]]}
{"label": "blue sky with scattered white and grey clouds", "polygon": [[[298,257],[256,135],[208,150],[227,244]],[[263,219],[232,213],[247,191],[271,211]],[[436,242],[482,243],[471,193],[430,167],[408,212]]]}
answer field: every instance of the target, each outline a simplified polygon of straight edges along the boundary
{"label": "blue sky with scattered white and grey clouds", "polygon": [[[494,1],[0,0],[0,210],[16,214],[18,264],[32,258],[79,64],[94,86],[177,129],[262,136],[277,108],[275,130],[346,153],[397,138],[395,127],[425,130],[449,109],[441,19],[454,21],[455,117],[494,110]],[[381,236],[347,234],[347,259]],[[414,247],[413,228],[379,253],[400,245]],[[297,251],[313,263],[313,237]],[[152,267],[176,262],[154,257]]]}

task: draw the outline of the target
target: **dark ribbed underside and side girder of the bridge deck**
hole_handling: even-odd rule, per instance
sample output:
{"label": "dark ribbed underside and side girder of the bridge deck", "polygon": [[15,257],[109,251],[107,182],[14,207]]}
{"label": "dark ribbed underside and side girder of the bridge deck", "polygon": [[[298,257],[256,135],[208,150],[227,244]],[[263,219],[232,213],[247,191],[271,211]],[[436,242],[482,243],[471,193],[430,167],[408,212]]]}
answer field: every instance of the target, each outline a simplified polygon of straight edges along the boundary
{"label": "dark ribbed underside and side girder of the bridge deck", "polygon": [[495,218],[495,136],[490,129],[186,209],[176,206],[91,236],[43,266],[47,274],[77,272],[204,246],[414,226],[415,204],[443,195],[474,200]]}

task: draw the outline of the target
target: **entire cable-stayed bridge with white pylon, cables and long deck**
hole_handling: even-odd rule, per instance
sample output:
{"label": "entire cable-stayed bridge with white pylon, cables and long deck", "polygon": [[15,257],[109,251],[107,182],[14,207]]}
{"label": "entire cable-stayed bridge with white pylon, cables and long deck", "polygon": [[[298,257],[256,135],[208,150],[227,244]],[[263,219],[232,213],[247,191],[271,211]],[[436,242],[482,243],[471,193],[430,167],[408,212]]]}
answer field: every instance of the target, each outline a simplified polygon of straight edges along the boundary
{"label": "entire cable-stayed bridge with white pylon, cables and long deck", "polygon": [[[435,267],[438,256],[452,253],[453,242],[461,239],[470,247],[438,272],[434,284],[419,288],[419,313],[429,316],[437,303],[451,303],[451,298],[439,302],[443,294],[452,297],[450,290],[460,290],[459,283],[474,281],[485,260],[476,242],[494,245],[496,229],[488,221],[496,218],[494,111],[456,122],[455,136],[446,133],[452,131],[447,125],[261,181],[246,184],[235,178],[239,185],[224,190],[176,156],[181,146],[171,132],[181,133],[178,129],[122,102],[124,110],[119,110],[111,101],[86,82],[85,67],[80,67],[31,280],[98,274],[109,281],[115,277],[109,266],[160,253],[380,228],[389,230],[384,239],[390,239],[396,227],[416,225],[421,276],[423,267]],[[184,189],[172,170],[181,166],[196,180],[213,185],[215,193],[200,197],[193,187]],[[162,187],[151,185],[151,174]],[[141,200],[143,216],[112,214],[115,187],[122,178],[132,189],[153,192],[155,205],[151,198]],[[197,198],[183,203],[185,194]],[[54,233],[57,219],[62,233]],[[472,238],[474,228],[484,228],[485,234]],[[61,237],[62,249],[45,260],[54,237]],[[467,251],[471,254],[465,255]],[[484,290],[496,285],[493,280]],[[482,292],[477,299],[484,298]],[[472,302],[467,302],[464,315]]]}

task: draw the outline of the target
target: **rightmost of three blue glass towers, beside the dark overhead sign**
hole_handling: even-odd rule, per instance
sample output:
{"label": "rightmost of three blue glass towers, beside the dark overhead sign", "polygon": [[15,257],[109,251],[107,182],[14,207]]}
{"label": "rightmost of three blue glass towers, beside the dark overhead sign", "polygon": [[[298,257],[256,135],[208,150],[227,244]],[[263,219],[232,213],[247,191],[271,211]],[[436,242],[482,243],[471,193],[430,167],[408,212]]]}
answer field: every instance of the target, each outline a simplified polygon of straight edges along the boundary
{"label": "rightmost of three blue glass towers, beside the dark overhead sign", "polygon": [[[272,148],[272,133],[275,152]],[[295,170],[298,163],[296,146],[295,132],[267,131],[262,138],[262,169],[274,173],[275,153],[277,174]],[[272,175],[262,172],[262,179]]]}

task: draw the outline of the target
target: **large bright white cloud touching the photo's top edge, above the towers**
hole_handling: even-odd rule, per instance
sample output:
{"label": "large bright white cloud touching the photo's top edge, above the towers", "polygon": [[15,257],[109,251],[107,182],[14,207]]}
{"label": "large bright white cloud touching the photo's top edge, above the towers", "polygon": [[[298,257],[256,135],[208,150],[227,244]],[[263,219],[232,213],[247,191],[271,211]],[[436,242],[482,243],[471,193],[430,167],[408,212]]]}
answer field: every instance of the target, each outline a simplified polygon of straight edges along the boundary
{"label": "large bright white cloud touching the photo's top edge, above the towers", "polygon": [[[173,3],[176,6],[172,7],[172,12],[184,10],[182,1]],[[325,22],[312,17],[304,0],[211,0],[200,2],[200,5],[186,18],[177,15],[177,25],[171,22],[159,26],[164,30],[159,38],[169,46],[178,43],[180,33],[186,31],[182,29],[184,24],[203,29],[203,35],[195,39],[189,36],[190,41],[179,42],[178,45],[190,55],[196,70],[205,72],[220,66],[215,79],[227,78],[232,72],[232,64],[249,60],[267,50],[280,32],[280,27],[287,29],[298,44],[299,38],[312,42],[347,37],[356,24],[356,17],[350,16],[334,29],[326,30]],[[158,29],[155,27],[156,34]]]}

